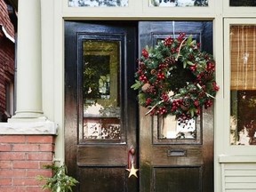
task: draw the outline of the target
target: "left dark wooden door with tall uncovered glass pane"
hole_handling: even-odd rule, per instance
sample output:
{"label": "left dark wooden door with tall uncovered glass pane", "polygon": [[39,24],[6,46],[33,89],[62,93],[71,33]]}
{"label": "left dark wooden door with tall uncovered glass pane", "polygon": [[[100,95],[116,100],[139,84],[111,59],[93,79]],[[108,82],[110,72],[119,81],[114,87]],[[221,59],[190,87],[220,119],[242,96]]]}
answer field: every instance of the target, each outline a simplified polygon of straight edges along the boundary
{"label": "left dark wooden door with tall uncovered glass pane", "polygon": [[65,22],[65,158],[76,191],[138,191],[126,171],[138,150],[136,42],[137,23]]}

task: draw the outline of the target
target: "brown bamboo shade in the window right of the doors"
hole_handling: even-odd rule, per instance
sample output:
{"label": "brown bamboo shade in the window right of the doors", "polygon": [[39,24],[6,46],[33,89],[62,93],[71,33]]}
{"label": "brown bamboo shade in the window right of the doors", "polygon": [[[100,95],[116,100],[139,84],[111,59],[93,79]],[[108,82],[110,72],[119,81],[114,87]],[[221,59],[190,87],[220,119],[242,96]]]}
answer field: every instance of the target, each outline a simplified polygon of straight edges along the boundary
{"label": "brown bamboo shade in the window right of the doors", "polygon": [[230,89],[256,90],[256,26],[230,27]]}

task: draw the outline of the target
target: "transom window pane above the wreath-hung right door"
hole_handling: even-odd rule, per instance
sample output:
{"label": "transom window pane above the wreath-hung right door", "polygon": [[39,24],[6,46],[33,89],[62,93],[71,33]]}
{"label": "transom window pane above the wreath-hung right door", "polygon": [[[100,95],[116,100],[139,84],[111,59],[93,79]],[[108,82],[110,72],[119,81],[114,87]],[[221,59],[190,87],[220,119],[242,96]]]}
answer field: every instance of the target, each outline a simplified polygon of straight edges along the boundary
{"label": "transom window pane above the wreath-hung right door", "polygon": [[148,0],[149,6],[170,6],[170,7],[188,7],[188,6],[208,6],[208,0]]}

